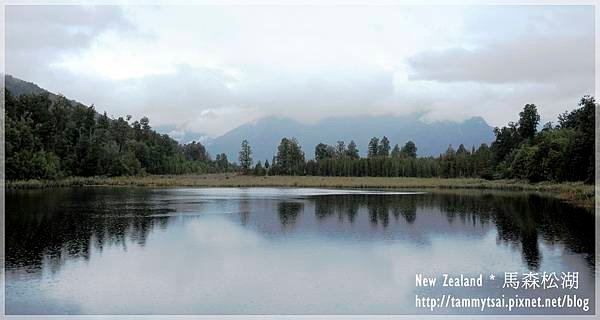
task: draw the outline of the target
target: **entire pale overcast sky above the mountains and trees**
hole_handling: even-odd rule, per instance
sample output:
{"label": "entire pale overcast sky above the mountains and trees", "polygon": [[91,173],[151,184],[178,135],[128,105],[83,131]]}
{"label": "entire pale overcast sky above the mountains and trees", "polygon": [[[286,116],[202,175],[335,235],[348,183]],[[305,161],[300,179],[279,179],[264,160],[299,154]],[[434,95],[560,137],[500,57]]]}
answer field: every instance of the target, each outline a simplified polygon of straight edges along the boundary
{"label": "entire pale overcast sky above the mountains and trees", "polygon": [[218,136],[269,115],[555,120],[594,90],[592,6],[8,6],[6,72]]}

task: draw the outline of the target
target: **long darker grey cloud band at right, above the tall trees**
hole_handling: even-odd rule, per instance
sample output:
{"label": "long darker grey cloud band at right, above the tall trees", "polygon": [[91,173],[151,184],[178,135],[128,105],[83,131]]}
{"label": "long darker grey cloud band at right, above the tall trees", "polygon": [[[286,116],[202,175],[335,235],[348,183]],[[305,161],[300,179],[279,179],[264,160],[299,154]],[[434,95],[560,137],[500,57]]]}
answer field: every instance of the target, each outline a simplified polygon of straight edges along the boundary
{"label": "long darker grey cloud band at right, above the tall trees", "polygon": [[[593,34],[537,37],[477,49],[454,47],[410,58],[411,79],[480,83],[562,82],[594,76]],[[566,58],[568,57],[568,58]]]}

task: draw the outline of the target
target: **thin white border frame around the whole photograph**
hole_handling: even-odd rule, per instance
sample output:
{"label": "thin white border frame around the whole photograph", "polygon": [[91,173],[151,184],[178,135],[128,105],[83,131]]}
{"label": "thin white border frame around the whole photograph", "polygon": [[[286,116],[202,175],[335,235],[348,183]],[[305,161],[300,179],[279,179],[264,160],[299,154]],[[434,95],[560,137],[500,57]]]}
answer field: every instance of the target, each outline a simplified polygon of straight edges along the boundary
{"label": "thin white border frame around the whole photograph", "polygon": [[[275,5],[275,6],[294,6],[294,5],[311,5],[311,6],[403,6],[403,5],[592,5],[594,6],[595,18],[595,93],[594,97],[600,99],[600,0],[584,0],[584,1],[569,1],[569,0],[46,0],[46,1],[18,1],[18,0],[0,0],[0,75],[5,74],[5,6],[7,5]],[[0,80],[0,88],[4,88],[4,76]],[[598,100],[597,100],[598,102]],[[2,246],[0,248],[0,264],[2,271],[0,272],[0,319],[173,319],[173,320],[189,320],[189,319],[596,319],[600,315],[600,267],[598,266],[597,257],[600,256],[600,192],[598,189],[598,181],[600,181],[600,162],[598,157],[595,159],[596,164],[596,181],[595,181],[595,243],[596,243],[596,270],[595,270],[595,314],[593,315],[5,315],[5,184],[4,184],[4,90],[0,93],[0,182],[2,193],[0,195],[0,237]],[[600,116],[599,108],[596,108],[596,141],[595,153],[598,155],[600,150]]]}

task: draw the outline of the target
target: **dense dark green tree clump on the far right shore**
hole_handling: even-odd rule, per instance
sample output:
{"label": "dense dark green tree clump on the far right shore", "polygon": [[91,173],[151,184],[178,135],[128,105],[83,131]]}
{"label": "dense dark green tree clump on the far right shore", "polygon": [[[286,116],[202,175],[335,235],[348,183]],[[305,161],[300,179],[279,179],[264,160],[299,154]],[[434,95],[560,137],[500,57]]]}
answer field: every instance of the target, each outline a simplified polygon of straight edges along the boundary
{"label": "dense dark green tree clump on the far right shore", "polygon": [[[548,123],[540,132],[535,105],[525,105],[519,125],[496,129],[492,144],[495,176],[529,181],[594,181],[595,100],[585,96],[580,108]],[[517,134],[515,134],[517,133]]]}

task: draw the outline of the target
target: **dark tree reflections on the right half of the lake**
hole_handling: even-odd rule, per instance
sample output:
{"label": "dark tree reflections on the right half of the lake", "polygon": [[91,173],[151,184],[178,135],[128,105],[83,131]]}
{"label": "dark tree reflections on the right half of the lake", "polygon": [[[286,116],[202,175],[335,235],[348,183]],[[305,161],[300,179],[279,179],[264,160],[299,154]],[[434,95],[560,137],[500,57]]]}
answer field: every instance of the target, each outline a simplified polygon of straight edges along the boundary
{"label": "dark tree reflections on the right half of the lake", "polygon": [[410,225],[418,219],[418,211],[439,210],[449,224],[457,219],[463,226],[493,223],[498,241],[520,246],[529,269],[539,268],[540,238],[550,244],[564,243],[574,253],[585,254],[587,263],[594,265],[594,216],[587,210],[535,194],[469,193],[319,196],[313,201],[318,220],[346,214],[352,223],[364,207],[371,225],[383,228],[388,227],[390,214],[396,221],[402,216]]}

